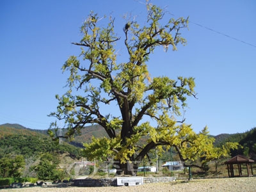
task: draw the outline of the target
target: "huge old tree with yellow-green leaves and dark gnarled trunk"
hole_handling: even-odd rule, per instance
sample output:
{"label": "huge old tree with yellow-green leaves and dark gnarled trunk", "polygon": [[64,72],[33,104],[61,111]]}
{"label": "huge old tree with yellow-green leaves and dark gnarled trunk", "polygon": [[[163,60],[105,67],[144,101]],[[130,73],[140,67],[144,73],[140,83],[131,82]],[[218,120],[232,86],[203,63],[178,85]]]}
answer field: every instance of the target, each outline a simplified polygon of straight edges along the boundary
{"label": "huge old tree with yellow-green leaves and dark gnarled trunk", "polygon": [[[63,65],[69,88],[56,95],[59,105],[50,114],[65,121],[68,137],[87,125],[101,125],[108,137],[84,144],[84,156],[113,158],[118,174],[136,175],[143,157],[156,149],[161,154],[173,147],[182,161],[206,157],[213,141],[207,129],[196,134],[181,116],[187,97],[196,95],[194,78],[151,77],[148,72],[154,49],[176,51],[178,44],[186,44],[180,31],[188,28],[188,19],[166,19],[163,10],[152,4],[146,11],[143,26],[132,19],[116,27],[112,17],[88,15],[81,41],[73,43],[81,47],[81,54],[70,56]],[[123,35],[118,36],[114,29],[120,28]],[[120,45],[127,60],[118,62]],[[52,127],[57,129],[57,124]]]}

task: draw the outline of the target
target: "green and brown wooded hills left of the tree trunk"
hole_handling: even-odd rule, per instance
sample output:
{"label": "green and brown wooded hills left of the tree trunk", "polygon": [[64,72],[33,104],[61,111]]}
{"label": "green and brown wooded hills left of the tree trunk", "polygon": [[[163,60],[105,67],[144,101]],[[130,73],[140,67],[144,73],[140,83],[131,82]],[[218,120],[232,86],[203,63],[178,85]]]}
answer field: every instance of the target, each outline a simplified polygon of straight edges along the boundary
{"label": "green and brown wooded hills left of the tree trunk", "polygon": [[60,152],[79,158],[82,143],[89,143],[92,136],[100,138],[107,134],[99,125],[88,126],[81,134],[76,134],[74,140],[64,140],[62,145],[58,145],[58,142],[51,140],[47,130],[29,129],[19,124],[3,124],[0,125],[0,156],[20,154],[31,157],[45,152]]}

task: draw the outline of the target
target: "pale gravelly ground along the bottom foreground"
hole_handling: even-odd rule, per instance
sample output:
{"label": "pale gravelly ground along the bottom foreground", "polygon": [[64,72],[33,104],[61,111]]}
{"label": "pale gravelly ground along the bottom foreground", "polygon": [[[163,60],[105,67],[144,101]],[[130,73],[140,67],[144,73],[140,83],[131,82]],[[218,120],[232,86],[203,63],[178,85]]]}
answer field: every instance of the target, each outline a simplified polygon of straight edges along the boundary
{"label": "pale gravelly ground along the bottom foreground", "polygon": [[212,192],[212,191],[243,191],[255,192],[256,191],[256,177],[236,177],[236,178],[221,178],[221,179],[193,179],[193,180],[177,180],[169,183],[154,183],[143,184],[141,186],[118,186],[118,187],[101,187],[101,188],[49,188],[49,187],[32,187],[32,188],[19,188],[19,189],[0,189],[0,192],[16,191],[16,192],[43,192],[43,191],[60,191],[60,192],[80,192],[80,191],[169,191],[169,192]]}

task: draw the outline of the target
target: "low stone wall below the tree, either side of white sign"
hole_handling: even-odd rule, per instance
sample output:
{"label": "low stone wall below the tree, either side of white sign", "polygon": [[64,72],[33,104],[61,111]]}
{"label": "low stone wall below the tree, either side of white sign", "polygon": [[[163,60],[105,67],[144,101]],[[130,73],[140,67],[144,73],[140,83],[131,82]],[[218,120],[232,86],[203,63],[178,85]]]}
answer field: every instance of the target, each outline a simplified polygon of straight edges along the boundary
{"label": "low stone wall below the tree, either side of white sign", "polygon": [[[172,182],[175,177],[143,177],[143,183],[154,182]],[[104,178],[104,179],[76,179],[74,180],[74,186],[77,187],[107,187],[117,186],[116,178]]]}

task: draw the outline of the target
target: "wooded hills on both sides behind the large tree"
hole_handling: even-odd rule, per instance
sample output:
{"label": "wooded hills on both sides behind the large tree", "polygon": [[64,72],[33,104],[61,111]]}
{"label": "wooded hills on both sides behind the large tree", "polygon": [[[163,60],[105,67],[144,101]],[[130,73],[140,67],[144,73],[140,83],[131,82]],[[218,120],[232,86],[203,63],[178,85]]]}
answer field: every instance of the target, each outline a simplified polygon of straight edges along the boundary
{"label": "wooded hills on both sides behind the large tree", "polygon": [[[63,130],[65,132],[65,129]],[[74,140],[66,140],[63,145],[52,141],[47,135],[47,130],[28,129],[19,124],[0,125],[0,153],[17,153],[24,156],[39,154],[42,152],[60,151],[68,152],[70,156],[79,156],[79,148],[82,143],[90,143],[92,136],[102,138],[107,136],[100,125],[92,125],[76,134]],[[232,156],[241,154],[256,159],[256,127],[247,132],[236,134],[219,134],[213,136],[216,147],[226,142],[237,142],[241,145],[237,150],[232,151]],[[71,145],[70,145],[71,144]]]}

